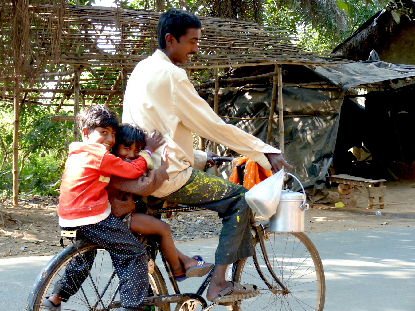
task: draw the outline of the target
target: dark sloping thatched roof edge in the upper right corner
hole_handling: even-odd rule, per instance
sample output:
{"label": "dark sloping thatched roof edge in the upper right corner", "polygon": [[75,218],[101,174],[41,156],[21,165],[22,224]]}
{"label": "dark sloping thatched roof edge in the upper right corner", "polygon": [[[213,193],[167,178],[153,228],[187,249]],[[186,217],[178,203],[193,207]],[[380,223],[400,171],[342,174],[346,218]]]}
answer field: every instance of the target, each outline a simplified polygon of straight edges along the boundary
{"label": "dark sloping thatched roof edge in the upper right corner", "polygon": [[[404,0],[402,3],[406,9],[415,9],[412,0]],[[336,46],[332,53],[338,58],[366,61],[371,50],[381,50],[391,36],[407,27],[412,21],[412,18],[402,15],[400,23],[397,24],[391,10],[381,10],[364,22],[343,43]]]}

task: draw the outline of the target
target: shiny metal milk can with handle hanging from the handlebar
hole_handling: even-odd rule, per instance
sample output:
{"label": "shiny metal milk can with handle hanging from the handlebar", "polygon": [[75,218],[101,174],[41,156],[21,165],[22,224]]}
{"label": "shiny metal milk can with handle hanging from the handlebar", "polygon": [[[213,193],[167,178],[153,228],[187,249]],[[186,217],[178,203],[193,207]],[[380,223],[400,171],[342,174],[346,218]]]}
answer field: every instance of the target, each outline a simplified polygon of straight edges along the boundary
{"label": "shiny metal milk can with handle hanging from the handlebar", "polygon": [[[300,185],[297,177],[290,173]],[[305,203],[305,190],[301,185],[303,193],[291,190],[282,190],[280,202],[276,213],[269,219],[269,231],[272,232],[304,232],[305,210],[308,204]]]}

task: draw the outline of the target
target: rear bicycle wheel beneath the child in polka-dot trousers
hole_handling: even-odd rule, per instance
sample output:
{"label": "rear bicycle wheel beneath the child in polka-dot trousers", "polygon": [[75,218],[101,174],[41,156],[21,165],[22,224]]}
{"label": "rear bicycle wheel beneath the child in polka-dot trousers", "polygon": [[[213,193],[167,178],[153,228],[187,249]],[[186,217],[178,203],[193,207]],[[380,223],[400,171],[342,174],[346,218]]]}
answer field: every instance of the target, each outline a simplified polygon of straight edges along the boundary
{"label": "rear bicycle wheel beneath the child in polka-dot trousers", "polygon": [[[61,278],[66,265],[70,265],[70,263],[72,263],[73,267],[73,259],[77,258],[79,253],[85,254],[89,251],[94,251],[96,254],[98,254],[95,256],[94,263],[90,269],[90,275],[88,275],[87,279],[85,279],[85,281],[82,283],[82,289],[80,288],[76,294],[72,295],[68,299],[68,302],[61,303],[61,310],[91,310],[91,307],[96,306],[96,309],[93,309],[98,311],[104,309],[101,301],[104,303],[105,307],[110,305],[112,295],[115,291],[117,291],[117,276],[115,275],[115,277],[113,277],[110,285],[105,290],[105,294],[103,295],[101,301],[96,294],[92,281],[90,280],[90,276],[92,276],[95,287],[98,289],[99,293],[102,293],[105,289],[105,285],[107,285],[107,283],[110,281],[112,272],[114,272],[114,268],[112,267],[112,262],[108,252],[105,251],[102,246],[88,242],[85,239],[77,241],[77,245],[79,252],[73,244],[68,245],[54,258],[52,258],[39,273],[39,276],[34,282],[32,290],[29,294],[26,305],[27,311],[49,311],[49,309],[43,306],[44,298],[46,296],[50,296],[54,287],[54,283],[57,279]],[[149,296],[168,294],[166,283],[164,282],[164,278],[161,275],[161,272],[156,264],[154,264],[154,272],[149,274],[149,281]],[[119,297],[119,294],[117,294],[117,296]],[[119,307],[119,305],[111,307],[108,310],[116,309],[117,307]],[[156,310],[157,309],[158,308],[156,308]]]}

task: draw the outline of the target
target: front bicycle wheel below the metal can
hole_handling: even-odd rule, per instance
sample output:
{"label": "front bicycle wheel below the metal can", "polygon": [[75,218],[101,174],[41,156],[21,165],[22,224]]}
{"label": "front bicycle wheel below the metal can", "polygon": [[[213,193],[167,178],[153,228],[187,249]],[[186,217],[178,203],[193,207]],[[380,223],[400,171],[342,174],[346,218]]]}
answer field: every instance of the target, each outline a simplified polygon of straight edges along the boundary
{"label": "front bicycle wheel below the metal can", "polygon": [[[276,280],[266,267],[264,255],[257,237],[254,237],[254,249],[258,258],[259,269],[271,289],[261,279],[254,265],[254,257],[235,262],[232,278],[238,283],[256,284],[260,294],[241,301],[234,307],[236,311],[252,310],[302,310],[322,311],[325,302],[325,276],[320,255],[310,238],[304,233],[269,233],[268,225],[264,227],[267,238],[262,237],[266,246],[269,263],[276,277],[289,290],[281,290]],[[268,241],[266,241],[268,240]],[[281,249],[276,247],[281,241]],[[281,250],[281,252],[280,252]]]}

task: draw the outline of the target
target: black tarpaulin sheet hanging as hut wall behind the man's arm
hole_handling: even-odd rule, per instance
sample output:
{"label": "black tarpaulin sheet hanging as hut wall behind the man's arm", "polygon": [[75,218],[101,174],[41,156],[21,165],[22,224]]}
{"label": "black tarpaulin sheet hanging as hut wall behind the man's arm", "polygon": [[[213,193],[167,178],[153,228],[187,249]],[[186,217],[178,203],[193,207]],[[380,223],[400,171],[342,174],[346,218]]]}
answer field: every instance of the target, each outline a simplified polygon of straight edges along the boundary
{"label": "black tarpaulin sheet hanging as hut wall behind the man's arm", "polygon": [[[208,102],[213,107],[213,92]],[[240,129],[266,141],[272,87],[228,87],[219,90],[219,115],[226,117],[265,119],[227,119]],[[339,126],[339,113],[344,92],[336,90],[283,87],[284,145],[286,159],[293,173],[307,188],[312,202],[330,202],[325,188],[325,174],[332,161]],[[274,117],[278,116],[278,110]],[[274,118],[271,146],[278,148],[278,119]],[[207,150],[213,150],[208,143]],[[219,146],[221,155],[237,156],[234,151]],[[227,177],[230,170],[227,168]],[[225,176],[224,176],[225,177]],[[300,190],[293,185],[293,190]]]}

